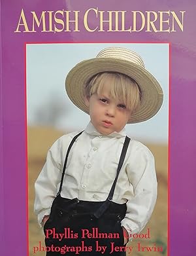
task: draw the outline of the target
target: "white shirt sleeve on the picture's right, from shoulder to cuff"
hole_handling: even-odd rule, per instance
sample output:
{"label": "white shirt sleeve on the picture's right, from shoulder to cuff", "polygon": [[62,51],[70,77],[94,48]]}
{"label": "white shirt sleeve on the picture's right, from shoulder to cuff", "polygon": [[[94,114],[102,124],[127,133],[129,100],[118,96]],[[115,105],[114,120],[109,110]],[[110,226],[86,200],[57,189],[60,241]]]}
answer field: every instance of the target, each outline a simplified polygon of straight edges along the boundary
{"label": "white shirt sleeve on the picture's right, from shoulder to cuff", "polygon": [[127,232],[139,233],[144,229],[154,210],[157,198],[157,179],[154,156],[144,145],[131,153],[127,176],[133,186],[133,198],[127,202],[127,212],[122,226]]}

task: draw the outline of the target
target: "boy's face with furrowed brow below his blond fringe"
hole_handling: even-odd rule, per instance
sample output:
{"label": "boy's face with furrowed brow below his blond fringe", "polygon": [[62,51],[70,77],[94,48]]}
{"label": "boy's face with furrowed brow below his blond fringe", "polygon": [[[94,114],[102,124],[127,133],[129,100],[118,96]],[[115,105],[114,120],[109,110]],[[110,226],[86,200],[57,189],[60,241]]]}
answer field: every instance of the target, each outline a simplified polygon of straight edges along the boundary
{"label": "boy's face with furrowed brow below his blond fringe", "polygon": [[106,86],[101,95],[93,94],[85,103],[90,109],[91,123],[101,134],[120,132],[131,115],[123,102],[110,97]]}

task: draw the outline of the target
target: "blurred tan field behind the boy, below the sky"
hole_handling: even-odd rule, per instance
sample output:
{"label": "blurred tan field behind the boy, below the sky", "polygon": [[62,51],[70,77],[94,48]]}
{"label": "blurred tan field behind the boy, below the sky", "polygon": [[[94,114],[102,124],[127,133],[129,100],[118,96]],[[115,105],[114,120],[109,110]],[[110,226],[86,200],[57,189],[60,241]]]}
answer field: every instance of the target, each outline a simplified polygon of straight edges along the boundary
{"label": "blurred tan field behind the boy, below the sky", "polygon": [[[38,246],[41,241],[44,246],[44,236],[42,229],[37,224],[37,217],[33,213],[34,203],[34,183],[35,179],[41,172],[41,168],[46,159],[46,153],[52,143],[63,135],[63,132],[50,127],[29,126],[27,130],[28,136],[28,177],[29,177],[29,256],[45,255],[44,252],[33,254],[33,247]],[[167,255],[167,145],[160,143],[145,143],[155,156],[155,165],[158,180],[158,197],[154,213],[146,229],[145,233],[150,229],[150,239],[136,239],[129,243],[133,246],[133,252],[127,255],[133,256],[161,256]],[[163,251],[137,251],[137,243],[141,243],[143,247],[162,247]],[[65,254],[66,255],[66,254]]]}

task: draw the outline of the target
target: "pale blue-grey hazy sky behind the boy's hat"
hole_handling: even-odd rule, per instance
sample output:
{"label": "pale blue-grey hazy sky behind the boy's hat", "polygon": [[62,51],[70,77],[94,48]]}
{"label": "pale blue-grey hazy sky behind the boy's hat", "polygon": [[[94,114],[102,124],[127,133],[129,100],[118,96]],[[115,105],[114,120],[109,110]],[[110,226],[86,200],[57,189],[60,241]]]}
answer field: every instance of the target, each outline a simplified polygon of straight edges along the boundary
{"label": "pale blue-grey hazy sky behind the boy's hat", "polygon": [[145,67],[161,84],[163,105],[152,119],[127,124],[127,135],[140,141],[168,143],[169,130],[169,44],[163,43],[56,43],[29,44],[26,54],[27,122],[50,124],[63,131],[84,130],[90,121],[65,92],[67,73],[82,60],[95,58],[103,48],[120,46],[137,52]]}

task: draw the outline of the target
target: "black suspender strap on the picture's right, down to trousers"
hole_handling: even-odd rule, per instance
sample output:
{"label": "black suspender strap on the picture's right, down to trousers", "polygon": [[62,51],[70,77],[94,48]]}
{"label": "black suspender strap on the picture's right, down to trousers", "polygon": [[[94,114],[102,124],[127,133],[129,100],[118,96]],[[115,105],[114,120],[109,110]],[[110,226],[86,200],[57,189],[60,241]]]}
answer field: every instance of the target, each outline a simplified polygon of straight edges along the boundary
{"label": "black suspender strap on the picture's right, down to trousers", "polygon": [[118,168],[117,168],[117,172],[116,172],[116,178],[114,179],[114,182],[112,184],[112,187],[110,189],[110,192],[108,194],[108,197],[106,198],[106,201],[101,205],[101,207],[95,211],[94,216],[99,219],[99,217],[101,217],[101,215],[103,215],[103,213],[105,213],[105,211],[108,209],[108,207],[110,206],[110,202],[113,198],[114,195],[114,189],[116,187],[116,182],[118,179],[118,175],[120,174],[120,170],[122,168],[123,162],[125,160],[125,155],[127,153],[127,148],[129,146],[129,142],[130,142],[130,138],[129,137],[125,137],[125,142],[123,144],[123,148],[122,148],[122,153],[120,155],[120,160],[118,163]]}

